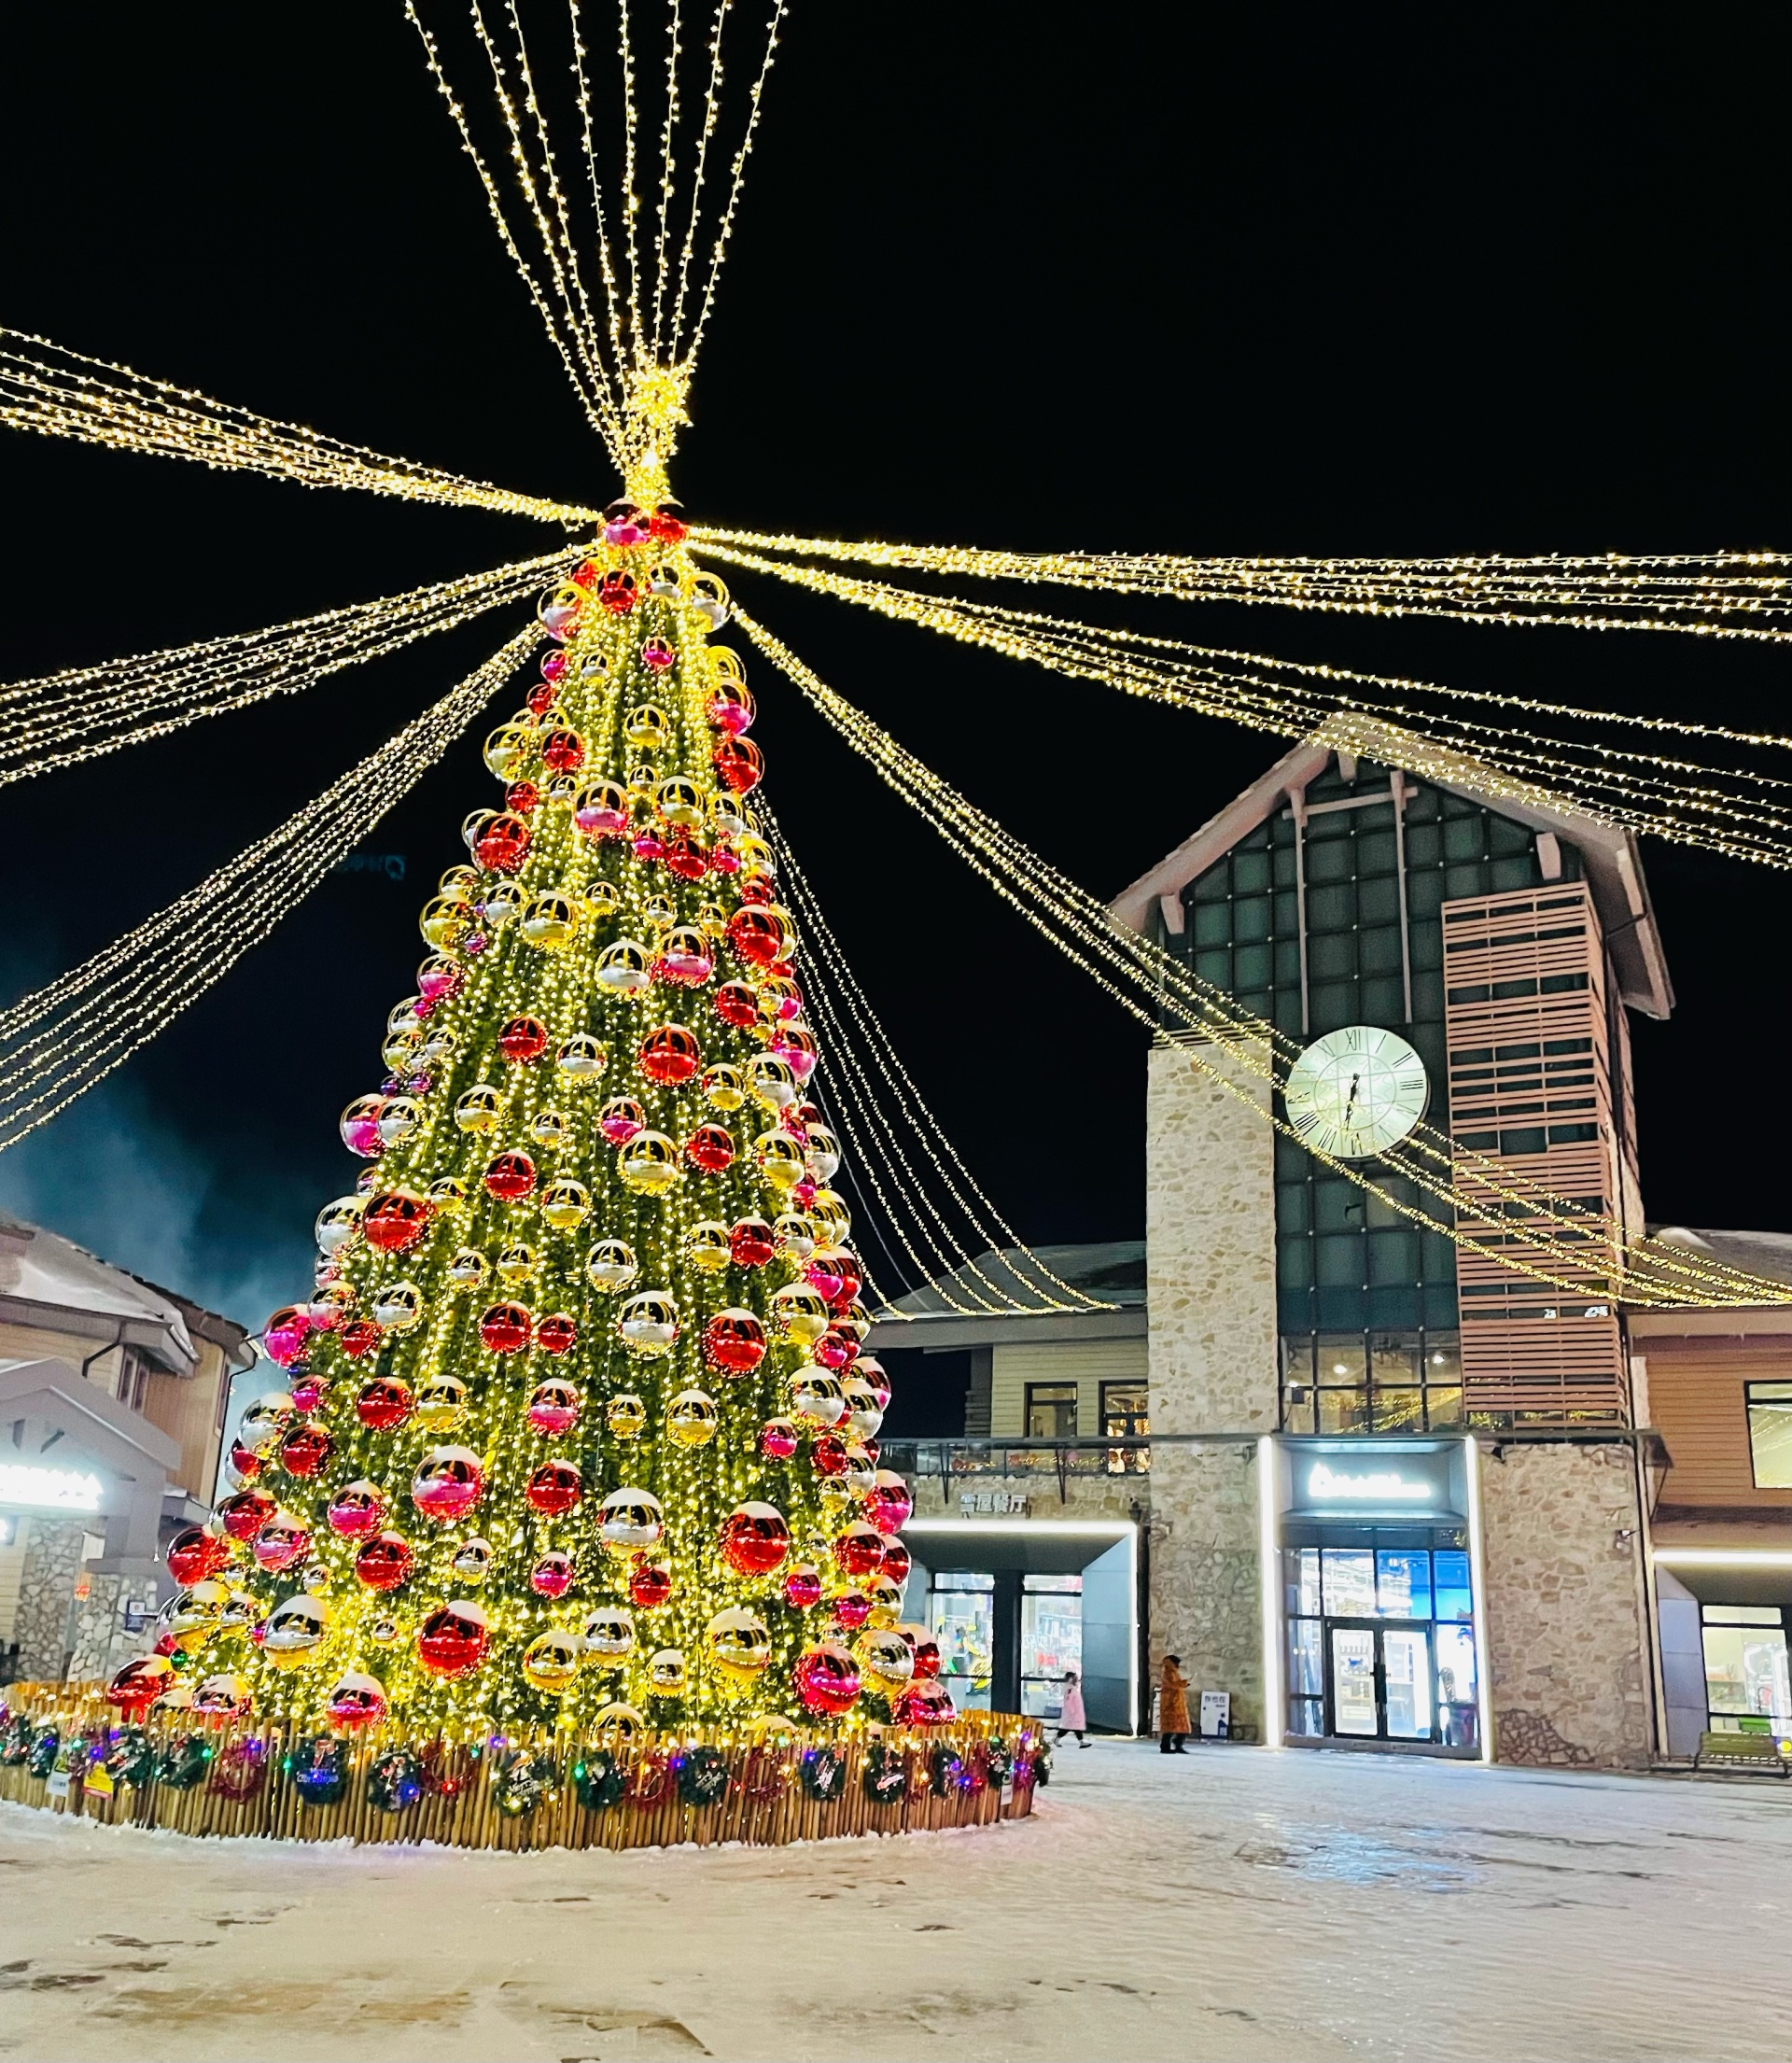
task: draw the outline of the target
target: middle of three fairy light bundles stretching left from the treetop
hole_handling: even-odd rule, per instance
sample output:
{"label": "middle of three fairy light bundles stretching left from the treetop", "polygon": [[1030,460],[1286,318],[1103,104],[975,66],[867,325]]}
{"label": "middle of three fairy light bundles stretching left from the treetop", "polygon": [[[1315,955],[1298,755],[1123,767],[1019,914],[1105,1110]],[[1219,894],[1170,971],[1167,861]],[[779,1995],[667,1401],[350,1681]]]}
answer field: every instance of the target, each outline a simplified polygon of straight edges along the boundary
{"label": "middle of three fairy light bundles stretching left from the treetop", "polygon": [[0,786],[297,695],[344,666],[522,600],[561,565],[565,553],[551,551],[258,631],[12,681],[0,687]]}

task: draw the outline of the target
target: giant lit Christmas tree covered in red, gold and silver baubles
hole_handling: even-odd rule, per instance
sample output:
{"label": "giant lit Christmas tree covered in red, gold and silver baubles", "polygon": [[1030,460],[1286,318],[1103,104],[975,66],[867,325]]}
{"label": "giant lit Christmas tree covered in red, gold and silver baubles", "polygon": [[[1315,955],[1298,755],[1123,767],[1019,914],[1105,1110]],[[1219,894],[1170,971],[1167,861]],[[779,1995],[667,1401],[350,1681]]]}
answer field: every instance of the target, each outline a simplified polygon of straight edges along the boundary
{"label": "giant lit Christmas tree covered in red, gold and silver baubles", "polygon": [[419,1741],[951,1714],[899,1630],[753,695],[683,534],[615,503],[542,602],[499,805],[342,1116],[367,1168],[266,1331],[287,1388],[169,1556],[177,1704]]}

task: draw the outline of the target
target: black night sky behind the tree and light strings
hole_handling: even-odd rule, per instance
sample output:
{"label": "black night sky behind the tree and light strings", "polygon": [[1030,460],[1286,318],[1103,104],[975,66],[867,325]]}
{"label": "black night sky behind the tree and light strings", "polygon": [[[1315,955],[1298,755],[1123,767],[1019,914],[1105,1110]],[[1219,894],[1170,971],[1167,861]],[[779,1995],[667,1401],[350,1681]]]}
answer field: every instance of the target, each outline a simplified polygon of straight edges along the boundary
{"label": "black night sky behind the tree and light strings", "polygon": [[[441,12],[441,10],[437,10]],[[738,10],[744,19],[744,8]],[[617,491],[392,0],[14,10],[4,322],[503,485]],[[1625,41],[1623,33],[1650,35]],[[1784,17],[864,8],[798,0],[674,483],[699,520],[1186,553],[1786,545]],[[250,629],[555,534],[0,433],[0,677]],[[732,576],[730,576],[732,578]],[[1283,747],[782,586],[833,685],[1111,895]],[[1033,596],[1041,607],[1041,594]],[[1695,640],[1076,594],[1167,635],[1786,726]],[[301,699],[4,796],[23,992],[272,827],[495,648],[495,615]],[[1035,1242],[1142,1230],[1144,1036],[763,662],[767,792],[860,980]],[[493,706],[493,722],[511,697]],[[476,724],[0,1205],[258,1324],[353,1180],[336,1139],[495,800]],[[1679,988],[1637,1023],[1650,1215],[1792,1230],[1755,1054],[1788,885],[1646,848]]]}

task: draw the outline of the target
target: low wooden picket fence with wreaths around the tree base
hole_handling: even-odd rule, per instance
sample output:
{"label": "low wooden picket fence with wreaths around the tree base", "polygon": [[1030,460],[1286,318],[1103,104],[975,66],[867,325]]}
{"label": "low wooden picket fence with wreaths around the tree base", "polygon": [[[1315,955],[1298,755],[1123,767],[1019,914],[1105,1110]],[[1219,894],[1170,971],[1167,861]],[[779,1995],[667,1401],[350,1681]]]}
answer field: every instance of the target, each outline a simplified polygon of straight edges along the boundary
{"label": "low wooden picket fence with wreaths around the tree base", "polygon": [[[485,1749],[429,1743],[423,1749],[423,1795],[398,1811],[381,1811],[369,1797],[371,1764],[394,1747],[412,1743],[390,1727],[346,1735],[346,1782],[330,1805],[311,1803],[293,1780],[291,1758],[311,1735],[280,1727],[204,1725],[192,1712],[151,1714],[148,1739],[171,1749],[202,1735],[212,1749],[206,1774],[190,1789],[167,1782],[91,1789],[95,1749],[126,1725],[99,1696],[99,1683],[12,1683],[0,1704],[29,1716],[39,1733],[54,1727],[78,1766],[66,1768],[66,1795],[52,1795],[52,1774],[33,1776],[27,1764],[0,1762],[0,1799],[47,1811],[80,1813],[103,1826],[165,1828],[175,1834],[235,1834],[268,1840],[439,1842],[456,1848],[666,1848],[681,1842],[714,1846],[744,1842],[782,1846],[792,1840],[831,1840],[850,1834],[916,1834],[957,1826],[994,1826],[1033,1811],[1043,1737],[1037,1721],[1008,1714],[965,1712],[944,1727],[852,1729],[831,1735],[810,1729],[685,1727],[639,1733],[621,1741],[573,1741],[542,1729],[505,1735]],[[1002,1768],[1002,1743],[1013,1758]],[[903,1758],[901,1797],[876,1803],[866,1793],[864,1770],[872,1747],[885,1762]],[[623,1797],[608,1807],[579,1803],[573,1766],[586,1751],[608,1749],[625,1778]],[[676,1760],[693,1747],[716,1747],[728,1764],[728,1791],[714,1805],[689,1805],[678,1795]],[[516,1749],[546,1751],[557,1778],[549,1795],[526,1811],[499,1805],[499,1772]],[[957,1758],[957,1770],[938,1766],[938,1749]],[[815,1797],[802,1782],[804,1758],[833,1751],[843,1760],[835,1797]],[[949,1762],[947,1758],[947,1762]],[[60,1789],[60,1787],[58,1787]]]}

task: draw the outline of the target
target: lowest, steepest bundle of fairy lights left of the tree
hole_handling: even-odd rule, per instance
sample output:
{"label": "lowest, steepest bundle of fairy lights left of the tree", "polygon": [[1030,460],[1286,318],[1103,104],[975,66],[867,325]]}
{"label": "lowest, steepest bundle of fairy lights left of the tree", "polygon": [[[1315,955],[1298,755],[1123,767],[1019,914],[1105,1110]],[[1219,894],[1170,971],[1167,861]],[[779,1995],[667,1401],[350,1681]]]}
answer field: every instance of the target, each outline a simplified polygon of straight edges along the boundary
{"label": "lowest, steepest bundle of fairy lights left of the tree", "polygon": [[47,1124],[229,974],[417,784],[540,637],[530,623],[266,838],[0,1011],[0,1147]]}

